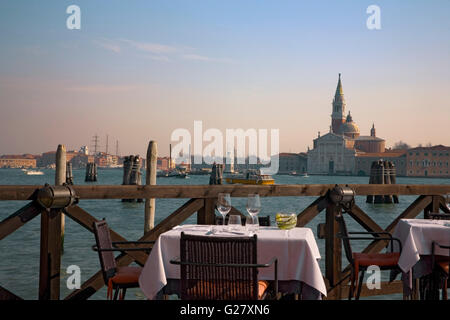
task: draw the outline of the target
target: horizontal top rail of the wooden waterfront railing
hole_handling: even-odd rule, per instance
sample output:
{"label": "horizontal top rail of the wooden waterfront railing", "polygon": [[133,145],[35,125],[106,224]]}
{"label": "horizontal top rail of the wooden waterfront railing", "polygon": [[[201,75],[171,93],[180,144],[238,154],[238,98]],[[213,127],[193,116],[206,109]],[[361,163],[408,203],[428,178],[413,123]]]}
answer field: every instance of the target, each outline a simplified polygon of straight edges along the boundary
{"label": "horizontal top rail of the wooden waterfront railing", "polygon": [[[220,192],[232,197],[246,197],[258,193],[261,197],[323,196],[334,184],[308,185],[166,185],[166,186],[123,186],[123,185],[78,185],[73,186],[80,199],[146,199],[146,198],[216,198]],[[0,186],[0,200],[30,200],[36,189],[42,186],[8,185]],[[450,185],[380,185],[350,184],[357,195],[445,195]]]}

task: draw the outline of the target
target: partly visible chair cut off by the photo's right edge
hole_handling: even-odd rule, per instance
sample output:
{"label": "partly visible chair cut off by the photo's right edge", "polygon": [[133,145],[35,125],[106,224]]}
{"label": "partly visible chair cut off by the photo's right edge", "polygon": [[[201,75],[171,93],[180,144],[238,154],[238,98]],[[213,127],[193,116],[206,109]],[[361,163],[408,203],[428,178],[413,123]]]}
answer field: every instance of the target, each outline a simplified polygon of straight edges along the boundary
{"label": "partly visible chair cut off by the photo's right edge", "polygon": [[[435,254],[436,248],[448,249],[448,257],[438,256]],[[433,299],[439,299],[439,288],[442,289],[442,300],[447,300],[447,289],[449,281],[449,267],[450,267],[450,245],[440,244],[436,241],[431,243],[431,265],[433,266],[433,292],[435,295]]]}

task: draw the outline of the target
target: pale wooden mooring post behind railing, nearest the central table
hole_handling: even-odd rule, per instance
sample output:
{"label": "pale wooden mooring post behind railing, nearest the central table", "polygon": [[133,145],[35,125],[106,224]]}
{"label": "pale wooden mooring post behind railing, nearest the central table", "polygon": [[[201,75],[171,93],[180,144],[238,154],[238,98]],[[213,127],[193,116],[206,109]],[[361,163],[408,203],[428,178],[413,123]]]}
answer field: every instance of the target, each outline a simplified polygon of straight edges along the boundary
{"label": "pale wooden mooring post behind railing, nearest the central table", "polygon": [[[147,168],[145,172],[145,184],[156,185],[156,167],[158,165],[158,147],[156,141],[150,141],[147,148]],[[145,199],[144,233],[149,232],[155,226],[155,199]]]}

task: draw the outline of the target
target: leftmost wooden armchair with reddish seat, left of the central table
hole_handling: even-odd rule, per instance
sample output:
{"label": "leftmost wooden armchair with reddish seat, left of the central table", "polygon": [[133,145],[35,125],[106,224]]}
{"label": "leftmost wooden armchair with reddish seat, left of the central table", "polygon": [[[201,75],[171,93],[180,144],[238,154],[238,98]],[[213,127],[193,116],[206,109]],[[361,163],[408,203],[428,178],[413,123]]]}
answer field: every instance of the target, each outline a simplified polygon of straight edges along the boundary
{"label": "leftmost wooden armchair with reddish seat, left of the central table", "polygon": [[112,292],[114,293],[114,300],[117,299],[119,291],[121,291],[120,299],[125,298],[127,288],[139,287],[139,276],[141,274],[141,267],[118,267],[114,258],[114,251],[148,251],[151,247],[132,247],[132,248],[118,248],[117,245],[138,245],[145,243],[154,243],[154,241],[120,241],[112,242],[109,232],[108,224],[105,220],[96,221],[93,223],[94,235],[96,245],[92,246],[94,251],[98,252],[100,265],[103,273],[103,279],[108,286],[107,298],[111,299]]}

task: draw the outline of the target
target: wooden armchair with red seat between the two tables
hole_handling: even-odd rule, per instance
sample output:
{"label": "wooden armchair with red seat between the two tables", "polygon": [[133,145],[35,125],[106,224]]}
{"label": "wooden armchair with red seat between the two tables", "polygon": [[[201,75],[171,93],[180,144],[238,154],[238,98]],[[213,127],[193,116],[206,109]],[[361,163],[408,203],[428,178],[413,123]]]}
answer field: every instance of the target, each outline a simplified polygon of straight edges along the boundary
{"label": "wooden armchair with red seat between the two tables", "polygon": [[[362,281],[364,279],[364,273],[369,266],[376,265],[380,270],[393,270],[399,269],[398,259],[400,258],[400,252],[402,250],[402,244],[399,239],[393,238],[389,232],[348,232],[347,226],[342,214],[336,216],[336,221],[339,223],[339,235],[342,239],[342,243],[345,250],[345,256],[351,265],[351,284],[348,299],[351,300],[354,297],[355,291],[356,300],[359,300],[361,294]],[[366,237],[350,237],[350,235],[368,235]],[[381,236],[383,235],[383,236]],[[389,240],[391,244],[390,253],[354,253],[350,244],[350,240]],[[400,252],[394,252],[394,241],[398,242]],[[359,283],[356,283],[359,272],[361,276]]]}

